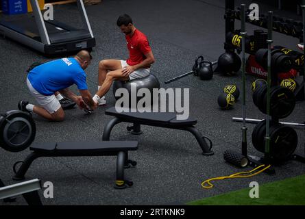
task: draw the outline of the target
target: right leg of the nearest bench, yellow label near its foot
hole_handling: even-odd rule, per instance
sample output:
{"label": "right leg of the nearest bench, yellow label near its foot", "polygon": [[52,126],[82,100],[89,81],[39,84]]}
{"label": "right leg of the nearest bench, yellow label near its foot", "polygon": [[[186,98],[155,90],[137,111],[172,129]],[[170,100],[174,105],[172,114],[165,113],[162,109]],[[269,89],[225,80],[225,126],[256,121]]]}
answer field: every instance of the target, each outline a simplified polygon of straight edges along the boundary
{"label": "right leg of the nearest bench, yellow label near its foot", "polygon": [[132,186],[131,181],[124,179],[124,164],[126,161],[126,153],[124,151],[119,151],[117,155],[117,179],[115,181],[114,188],[125,189]]}

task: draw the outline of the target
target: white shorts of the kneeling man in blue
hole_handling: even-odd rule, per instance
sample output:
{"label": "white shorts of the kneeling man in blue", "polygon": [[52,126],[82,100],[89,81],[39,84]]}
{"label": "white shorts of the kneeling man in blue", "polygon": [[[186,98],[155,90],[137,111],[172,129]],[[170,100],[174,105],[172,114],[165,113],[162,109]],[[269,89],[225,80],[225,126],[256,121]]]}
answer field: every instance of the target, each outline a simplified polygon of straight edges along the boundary
{"label": "white shorts of the kneeling man in blue", "polygon": [[31,94],[35,97],[38,105],[43,107],[50,114],[53,114],[60,109],[60,102],[54,94],[51,96],[40,94],[37,90],[35,90],[35,88],[33,88],[31,82],[29,82],[29,79],[27,79],[27,88],[29,88],[29,92],[31,92]]}

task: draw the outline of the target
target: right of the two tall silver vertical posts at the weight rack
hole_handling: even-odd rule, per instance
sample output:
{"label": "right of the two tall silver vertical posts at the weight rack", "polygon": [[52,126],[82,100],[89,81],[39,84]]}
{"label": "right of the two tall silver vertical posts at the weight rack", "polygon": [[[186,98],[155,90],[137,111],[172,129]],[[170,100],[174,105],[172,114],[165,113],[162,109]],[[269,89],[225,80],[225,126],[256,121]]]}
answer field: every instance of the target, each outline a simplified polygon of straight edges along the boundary
{"label": "right of the two tall silver vertical posts at the weight rack", "polygon": [[265,164],[270,164],[270,137],[269,137],[269,125],[270,125],[270,87],[271,87],[271,45],[273,30],[273,12],[268,12],[268,56],[267,56],[267,115],[266,115],[266,136],[265,136]]}

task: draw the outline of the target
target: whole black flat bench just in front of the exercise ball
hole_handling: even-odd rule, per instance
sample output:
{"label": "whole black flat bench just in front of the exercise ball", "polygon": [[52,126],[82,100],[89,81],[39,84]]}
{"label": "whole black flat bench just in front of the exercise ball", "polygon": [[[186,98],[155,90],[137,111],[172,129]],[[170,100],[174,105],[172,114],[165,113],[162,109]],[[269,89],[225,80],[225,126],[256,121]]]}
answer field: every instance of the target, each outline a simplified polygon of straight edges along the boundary
{"label": "whole black flat bench just in front of the exercise ball", "polygon": [[213,155],[211,151],[212,142],[210,146],[206,143],[204,136],[194,127],[197,124],[197,120],[188,118],[187,120],[177,120],[175,113],[169,112],[117,112],[115,107],[111,107],[106,110],[106,115],[115,116],[110,120],[103,129],[103,140],[110,140],[110,133],[113,127],[119,123],[133,123],[132,127],[127,127],[128,131],[132,131],[132,134],[141,134],[141,125],[150,125],[154,127],[164,127],[169,129],[179,129],[189,131],[195,136],[199,146],[202,148],[203,155]]}

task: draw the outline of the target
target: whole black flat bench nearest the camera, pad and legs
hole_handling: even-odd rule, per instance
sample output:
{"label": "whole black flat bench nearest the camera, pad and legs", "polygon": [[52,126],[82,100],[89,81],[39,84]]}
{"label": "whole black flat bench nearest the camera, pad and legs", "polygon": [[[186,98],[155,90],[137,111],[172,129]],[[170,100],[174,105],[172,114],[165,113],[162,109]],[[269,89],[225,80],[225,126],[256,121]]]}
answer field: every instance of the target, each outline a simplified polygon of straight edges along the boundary
{"label": "whole black flat bench nearest the camera, pad and legs", "polygon": [[[107,142],[49,142],[32,144],[30,153],[24,162],[14,164],[14,180],[25,179],[25,173],[34,159],[38,157],[83,157],[83,156],[117,156],[117,179],[114,188],[127,188],[132,181],[124,179],[124,168],[136,166],[136,162],[128,160],[128,151],[136,151],[138,142],[107,141]],[[22,163],[18,171],[16,165]]]}

